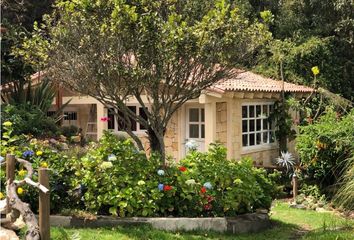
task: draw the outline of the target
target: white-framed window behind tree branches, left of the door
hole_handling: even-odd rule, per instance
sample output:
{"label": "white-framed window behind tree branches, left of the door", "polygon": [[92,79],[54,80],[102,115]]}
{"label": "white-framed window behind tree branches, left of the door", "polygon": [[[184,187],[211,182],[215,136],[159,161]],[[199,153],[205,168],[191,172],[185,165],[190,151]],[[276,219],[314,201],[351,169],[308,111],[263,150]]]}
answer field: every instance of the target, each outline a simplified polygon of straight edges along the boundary
{"label": "white-framed window behind tree branches, left of the door", "polygon": [[[138,106],[128,106],[128,108],[133,111],[135,114],[140,115],[143,119],[147,120],[147,116],[144,112],[143,107],[138,107]],[[127,126],[123,120],[123,113],[121,111],[118,111],[118,119],[117,116],[114,114],[114,109],[110,108],[108,109],[108,129],[112,129],[115,131],[125,131],[127,129]],[[136,122],[134,119],[130,118],[131,122],[131,129],[132,131],[143,131],[146,130],[146,128],[141,125],[140,123]]]}

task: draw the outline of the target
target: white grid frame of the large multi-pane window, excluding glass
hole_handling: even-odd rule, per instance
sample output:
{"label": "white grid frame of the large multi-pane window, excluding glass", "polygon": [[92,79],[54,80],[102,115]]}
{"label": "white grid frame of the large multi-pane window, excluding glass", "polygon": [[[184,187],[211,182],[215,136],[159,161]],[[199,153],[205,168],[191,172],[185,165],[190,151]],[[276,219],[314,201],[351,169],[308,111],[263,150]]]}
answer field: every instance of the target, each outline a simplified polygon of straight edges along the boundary
{"label": "white grid frame of the large multi-pane window, excluding glass", "polygon": [[[262,116],[263,114],[263,105],[267,105],[267,114],[268,116]],[[242,111],[243,107],[247,107],[247,117],[242,116]],[[249,106],[254,106],[254,117],[249,117]],[[261,116],[257,116],[256,106],[261,106]],[[274,122],[273,123],[268,123],[268,128],[266,130],[263,129],[263,120],[268,119],[269,115],[272,113],[270,111],[270,106],[273,106],[273,112],[274,112],[274,102],[245,102],[241,104],[241,121],[240,121],[240,138],[241,138],[241,146],[243,151],[247,150],[256,150],[256,149],[262,149],[262,148],[273,148],[277,146],[277,141],[275,139],[275,128],[274,128]],[[243,132],[243,121],[247,120],[247,132]],[[250,131],[250,124],[249,120],[254,120],[254,130]],[[257,120],[261,120],[261,128],[260,130],[257,131]],[[267,142],[263,142],[263,133],[267,132],[268,133],[268,138]],[[257,133],[261,133],[261,143],[257,144]],[[243,146],[243,135],[247,134],[247,142],[248,146]],[[250,135],[254,134],[254,145],[250,146]],[[271,142],[271,134],[274,137],[274,141]]]}

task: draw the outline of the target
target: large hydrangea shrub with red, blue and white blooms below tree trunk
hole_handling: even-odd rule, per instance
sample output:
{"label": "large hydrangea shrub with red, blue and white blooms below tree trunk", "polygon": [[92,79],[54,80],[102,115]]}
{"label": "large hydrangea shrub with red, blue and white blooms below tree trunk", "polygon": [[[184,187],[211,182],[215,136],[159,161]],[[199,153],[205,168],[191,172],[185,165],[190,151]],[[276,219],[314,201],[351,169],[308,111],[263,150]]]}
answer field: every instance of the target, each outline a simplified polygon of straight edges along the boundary
{"label": "large hydrangea shrub with red, blue and white blooms below tree trunk", "polygon": [[227,160],[218,144],[179,164],[159,162],[106,133],[77,168],[85,205],[119,216],[233,216],[269,208],[276,189],[265,170],[250,159]]}

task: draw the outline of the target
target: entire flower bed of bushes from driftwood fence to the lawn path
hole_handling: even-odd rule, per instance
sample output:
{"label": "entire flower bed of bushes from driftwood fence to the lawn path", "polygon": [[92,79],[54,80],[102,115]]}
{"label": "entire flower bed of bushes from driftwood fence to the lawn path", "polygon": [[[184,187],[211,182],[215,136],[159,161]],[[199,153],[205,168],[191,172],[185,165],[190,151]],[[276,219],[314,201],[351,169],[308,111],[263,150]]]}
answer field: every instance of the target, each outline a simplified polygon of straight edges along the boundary
{"label": "entire flower bed of bushes from driftwood fence to the lawn path", "polygon": [[[232,216],[268,208],[272,200],[273,184],[264,171],[253,168],[250,160],[227,160],[225,148],[217,144],[207,153],[191,151],[180,163],[161,166],[157,155],[147,158],[130,140],[120,141],[109,132],[83,153],[21,138],[25,136],[17,136],[15,142],[11,137],[2,140],[1,156],[12,152],[34,168],[52,169],[52,212],[65,207],[121,217]],[[18,169],[17,178],[25,174]],[[18,192],[38,209],[36,191],[24,187]]]}

